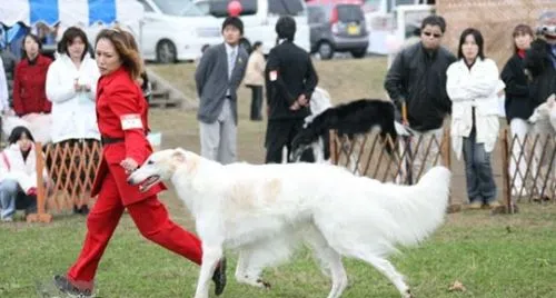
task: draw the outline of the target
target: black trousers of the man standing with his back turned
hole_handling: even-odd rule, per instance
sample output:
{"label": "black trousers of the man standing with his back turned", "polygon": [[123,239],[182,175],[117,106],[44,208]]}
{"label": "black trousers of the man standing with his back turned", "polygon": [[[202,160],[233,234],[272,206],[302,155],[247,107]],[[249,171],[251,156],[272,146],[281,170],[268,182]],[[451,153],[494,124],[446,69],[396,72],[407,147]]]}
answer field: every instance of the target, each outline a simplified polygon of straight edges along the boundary
{"label": "black trousers of the man standing with his back turned", "polygon": [[[267,127],[267,136],[265,138],[265,147],[267,148],[267,156],[265,158],[266,163],[281,163],[282,161],[282,149],[286,147],[288,149],[288,162],[289,153],[291,151],[291,141],[296,135],[302,129],[304,119],[288,119],[288,120],[269,120]],[[315,162],[315,157],[311,150],[306,150],[301,155],[301,161]]]}

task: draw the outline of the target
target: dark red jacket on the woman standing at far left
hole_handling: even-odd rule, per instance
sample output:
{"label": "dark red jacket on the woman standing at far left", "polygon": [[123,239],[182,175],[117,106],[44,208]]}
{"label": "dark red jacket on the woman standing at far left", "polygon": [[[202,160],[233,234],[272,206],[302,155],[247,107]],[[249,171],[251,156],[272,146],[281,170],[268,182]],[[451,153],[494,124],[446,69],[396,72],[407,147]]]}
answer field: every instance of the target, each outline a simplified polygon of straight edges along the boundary
{"label": "dark red jacket on the woman standing at far left", "polygon": [[47,99],[47,71],[52,59],[39,54],[34,63],[22,59],[16,67],[13,78],[13,110],[18,116],[31,112],[52,110],[52,103]]}

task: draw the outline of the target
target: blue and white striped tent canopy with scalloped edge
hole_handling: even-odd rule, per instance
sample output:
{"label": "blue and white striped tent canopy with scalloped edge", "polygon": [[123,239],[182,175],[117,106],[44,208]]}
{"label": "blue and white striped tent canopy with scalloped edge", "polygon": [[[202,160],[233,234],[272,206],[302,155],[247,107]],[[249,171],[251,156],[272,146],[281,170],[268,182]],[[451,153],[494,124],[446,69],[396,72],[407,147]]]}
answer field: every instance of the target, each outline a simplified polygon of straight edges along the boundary
{"label": "blue and white striped tent canopy with scalloped edge", "polygon": [[39,22],[89,27],[133,23],[143,17],[143,7],[137,0],[0,0],[0,21],[6,27],[17,22],[28,27]]}

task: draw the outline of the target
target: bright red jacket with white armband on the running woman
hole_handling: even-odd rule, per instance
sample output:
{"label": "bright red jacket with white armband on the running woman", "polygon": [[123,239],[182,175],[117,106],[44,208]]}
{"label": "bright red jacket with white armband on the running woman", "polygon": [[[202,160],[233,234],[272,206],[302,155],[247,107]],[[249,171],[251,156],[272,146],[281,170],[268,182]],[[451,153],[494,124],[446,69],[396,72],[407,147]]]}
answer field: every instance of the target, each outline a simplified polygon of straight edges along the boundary
{"label": "bright red jacket with white armband on the running woman", "polygon": [[95,178],[92,197],[99,193],[108,172],[113,176],[125,206],[166,189],[159,183],[147,192],[140,192],[138,186],[127,183],[128,177],[120,166],[127,157],[141,165],[152,153],[147,139],[148,108],[141,89],[123,68],[100,77],[97,85],[97,121],[100,135],[108,138],[123,138],[123,141],[102,147],[102,161]]}

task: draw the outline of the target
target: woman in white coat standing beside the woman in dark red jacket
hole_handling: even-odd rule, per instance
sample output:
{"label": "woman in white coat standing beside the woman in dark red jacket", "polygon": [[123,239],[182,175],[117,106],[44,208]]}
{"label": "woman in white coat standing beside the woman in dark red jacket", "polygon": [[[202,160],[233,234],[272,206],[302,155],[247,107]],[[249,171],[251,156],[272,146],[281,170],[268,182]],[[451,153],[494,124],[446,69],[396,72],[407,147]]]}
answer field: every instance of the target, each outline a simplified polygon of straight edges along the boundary
{"label": "woman in white coat standing beside the woman in dark red jacket", "polygon": [[[47,98],[52,102],[52,142],[64,148],[91,148],[100,142],[95,99],[100,77],[95,60],[90,58],[89,41],[83,30],[68,28],[58,43],[59,56],[47,73]],[[71,158],[66,160],[70,166]],[[73,160],[79,165],[79,158]],[[82,172],[80,177],[56,177],[54,179],[86,179],[95,172]],[[68,189],[70,193],[72,189]],[[87,205],[75,206],[76,213],[88,213]]]}

